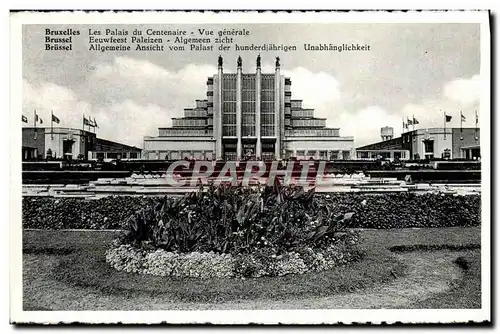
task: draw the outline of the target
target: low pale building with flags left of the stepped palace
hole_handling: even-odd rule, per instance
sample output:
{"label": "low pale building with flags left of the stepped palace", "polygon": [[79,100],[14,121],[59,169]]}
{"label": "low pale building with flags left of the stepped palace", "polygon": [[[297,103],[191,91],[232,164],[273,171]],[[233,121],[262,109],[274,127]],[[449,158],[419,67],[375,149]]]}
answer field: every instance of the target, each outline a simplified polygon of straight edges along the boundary
{"label": "low pale building with flags left of the stepped palace", "polygon": [[[25,127],[22,159],[140,159],[141,149],[97,138],[95,133],[71,128]],[[48,153],[48,154],[47,154]]]}

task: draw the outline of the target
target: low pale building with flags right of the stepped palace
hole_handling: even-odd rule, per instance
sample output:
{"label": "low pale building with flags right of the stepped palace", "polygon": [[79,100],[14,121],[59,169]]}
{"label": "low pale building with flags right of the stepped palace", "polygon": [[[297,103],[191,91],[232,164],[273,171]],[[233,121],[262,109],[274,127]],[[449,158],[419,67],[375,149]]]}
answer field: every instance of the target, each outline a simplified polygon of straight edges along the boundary
{"label": "low pale building with flags right of the stepped palace", "polygon": [[356,149],[357,159],[377,159],[379,157],[391,160],[477,159],[481,157],[480,129],[418,129],[405,132],[398,138]]}

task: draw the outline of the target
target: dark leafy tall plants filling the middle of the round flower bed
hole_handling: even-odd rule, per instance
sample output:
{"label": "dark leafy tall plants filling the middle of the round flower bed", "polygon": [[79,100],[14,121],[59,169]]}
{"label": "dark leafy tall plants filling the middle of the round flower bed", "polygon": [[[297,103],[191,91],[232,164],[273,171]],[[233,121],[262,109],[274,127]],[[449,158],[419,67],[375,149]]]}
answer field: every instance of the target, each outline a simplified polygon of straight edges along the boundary
{"label": "dark leafy tall plants filling the middle of the round flower bed", "polygon": [[283,254],[299,245],[324,248],[353,213],[314,201],[314,189],[209,187],[162,198],[129,219],[124,243],[170,252]]}

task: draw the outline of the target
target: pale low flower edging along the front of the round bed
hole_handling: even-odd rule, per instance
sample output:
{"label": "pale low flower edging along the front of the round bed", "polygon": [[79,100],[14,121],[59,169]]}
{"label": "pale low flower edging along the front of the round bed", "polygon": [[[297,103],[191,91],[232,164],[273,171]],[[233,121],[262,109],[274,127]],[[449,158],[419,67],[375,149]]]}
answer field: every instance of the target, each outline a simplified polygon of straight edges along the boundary
{"label": "pale low flower edging along the front of the round bed", "polygon": [[251,254],[211,252],[179,253],[163,249],[148,250],[115,243],[106,252],[106,262],[116,270],[176,278],[244,278],[304,274],[330,270],[360,258],[355,232],[324,249],[299,247],[280,255],[270,250]]}

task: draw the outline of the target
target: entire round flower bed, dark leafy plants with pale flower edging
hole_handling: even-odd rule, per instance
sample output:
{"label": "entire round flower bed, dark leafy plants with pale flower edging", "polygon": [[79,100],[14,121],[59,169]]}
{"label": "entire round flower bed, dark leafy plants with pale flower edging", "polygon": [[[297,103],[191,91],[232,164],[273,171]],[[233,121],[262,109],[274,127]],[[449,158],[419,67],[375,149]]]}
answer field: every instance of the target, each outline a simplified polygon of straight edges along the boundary
{"label": "entire round flower bed, dark leafy plants with pale flower edging", "polygon": [[158,199],[128,220],[106,260],[128,272],[212,278],[302,274],[357,259],[353,213],[314,195],[275,184]]}

